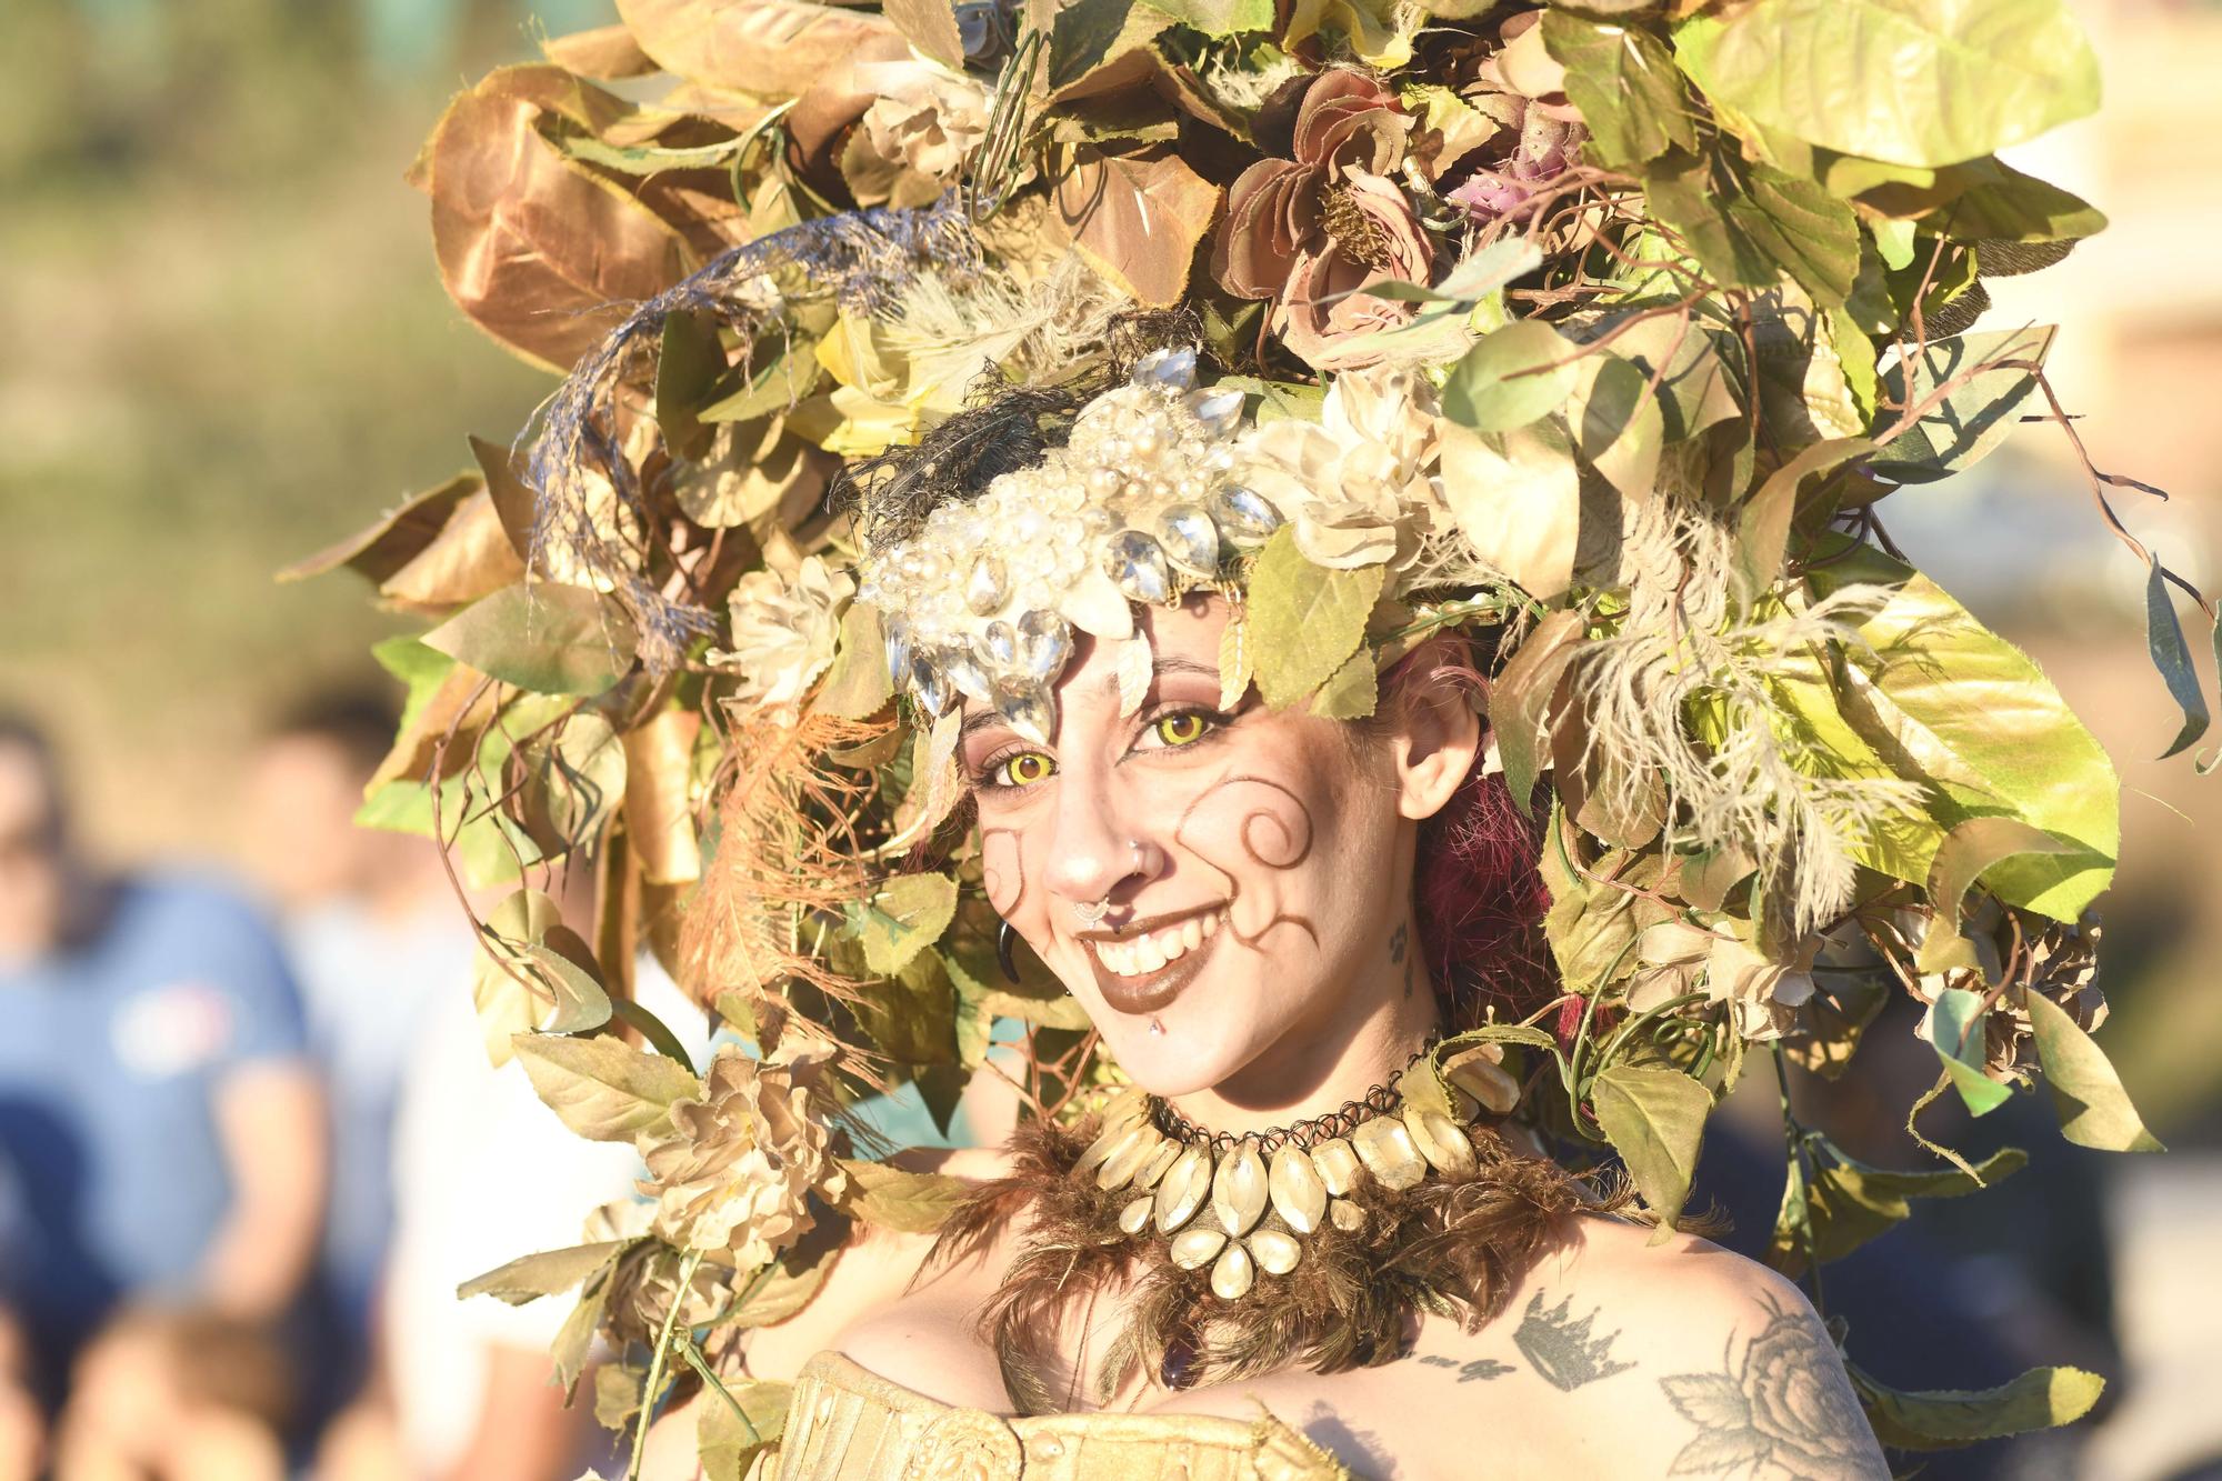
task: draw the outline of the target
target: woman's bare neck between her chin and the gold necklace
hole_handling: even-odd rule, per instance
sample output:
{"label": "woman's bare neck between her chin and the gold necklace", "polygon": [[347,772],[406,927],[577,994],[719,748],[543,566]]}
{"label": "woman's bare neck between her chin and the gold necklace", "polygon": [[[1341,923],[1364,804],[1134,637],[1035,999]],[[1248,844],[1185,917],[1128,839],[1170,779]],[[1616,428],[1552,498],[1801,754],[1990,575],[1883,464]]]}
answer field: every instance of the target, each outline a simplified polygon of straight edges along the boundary
{"label": "woman's bare neck between her chin and the gold necklace", "polygon": [[1291,1023],[1264,1054],[1218,1085],[1180,1096],[1173,1110],[1240,1136],[1324,1116],[1387,1083],[1442,1016],[1409,916],[1382,956],[1384,965],[1335,994],[1324,1016]]}

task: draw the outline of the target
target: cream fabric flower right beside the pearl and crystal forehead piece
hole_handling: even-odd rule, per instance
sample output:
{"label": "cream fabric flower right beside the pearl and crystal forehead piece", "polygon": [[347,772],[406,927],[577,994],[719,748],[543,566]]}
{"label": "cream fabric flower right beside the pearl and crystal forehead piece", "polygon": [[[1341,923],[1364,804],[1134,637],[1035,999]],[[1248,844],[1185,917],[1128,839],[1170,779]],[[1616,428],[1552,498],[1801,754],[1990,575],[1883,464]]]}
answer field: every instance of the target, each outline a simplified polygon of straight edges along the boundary
{"label": "cream fabric flower right beside the pearl and crystal forehead piece", "polygon": [[1313,565],[1409,565],[1442,507],[1435,391],[1409,369],[1335,376],[1318,423],[1267,423],[1244,434],[1235,460]]}

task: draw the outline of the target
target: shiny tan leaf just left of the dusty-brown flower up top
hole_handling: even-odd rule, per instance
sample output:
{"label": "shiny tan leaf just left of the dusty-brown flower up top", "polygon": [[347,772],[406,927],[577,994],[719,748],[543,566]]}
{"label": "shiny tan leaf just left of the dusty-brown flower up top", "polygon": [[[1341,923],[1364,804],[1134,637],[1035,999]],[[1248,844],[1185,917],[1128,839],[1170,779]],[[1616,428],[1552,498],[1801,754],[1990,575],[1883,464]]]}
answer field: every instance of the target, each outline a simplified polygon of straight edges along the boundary
{"label": "shiny tan leaf just left of the dusty-brown flower up top", "polygon": [[1104,156],[1078,149],[1058,180],[1058,220],[1100,274],[1149,307],[1180,302],[1195,245],[1211,231],[1220,187],[1178,156]]}

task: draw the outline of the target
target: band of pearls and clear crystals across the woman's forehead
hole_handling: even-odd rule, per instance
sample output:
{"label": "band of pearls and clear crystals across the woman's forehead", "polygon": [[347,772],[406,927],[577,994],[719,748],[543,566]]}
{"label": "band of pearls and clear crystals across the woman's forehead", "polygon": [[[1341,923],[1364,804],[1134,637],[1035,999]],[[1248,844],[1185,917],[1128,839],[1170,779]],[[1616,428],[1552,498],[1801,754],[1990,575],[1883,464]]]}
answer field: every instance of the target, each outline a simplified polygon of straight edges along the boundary
{"label": "band of pearls and clear crystals across the woman's forehead", "polygon": [[1195,349],[1144,356],[1080,409],[1071,438],[858,563],[889,676],[927,718],[993,705],[1047,745],[1073,629],[1133,636],[1131,603],[1224,589],[1282,514],[1231,478],[1242,391],[1195,385]]}

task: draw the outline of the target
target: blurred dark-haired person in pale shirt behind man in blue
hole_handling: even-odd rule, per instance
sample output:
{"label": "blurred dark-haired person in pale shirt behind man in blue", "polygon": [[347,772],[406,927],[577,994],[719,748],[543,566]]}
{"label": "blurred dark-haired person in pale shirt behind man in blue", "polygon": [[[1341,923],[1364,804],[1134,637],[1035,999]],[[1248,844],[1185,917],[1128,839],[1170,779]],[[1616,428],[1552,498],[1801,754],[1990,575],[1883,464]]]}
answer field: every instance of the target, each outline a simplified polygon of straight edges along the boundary
{"label": "blurred dark-haired person in pale shirt behind man in blue", "polygon": [[393,1121],[438,994],[460,994],[473,936],[427,838],[356,827],[400,712],[331,689],[287,709],[249,763],[244,825],[258,883],[280,907],[309,1047],[331,1099],[331,1192],[318,1316],[331,1339],[320,1410],[362,1383],[393,1234]]}

